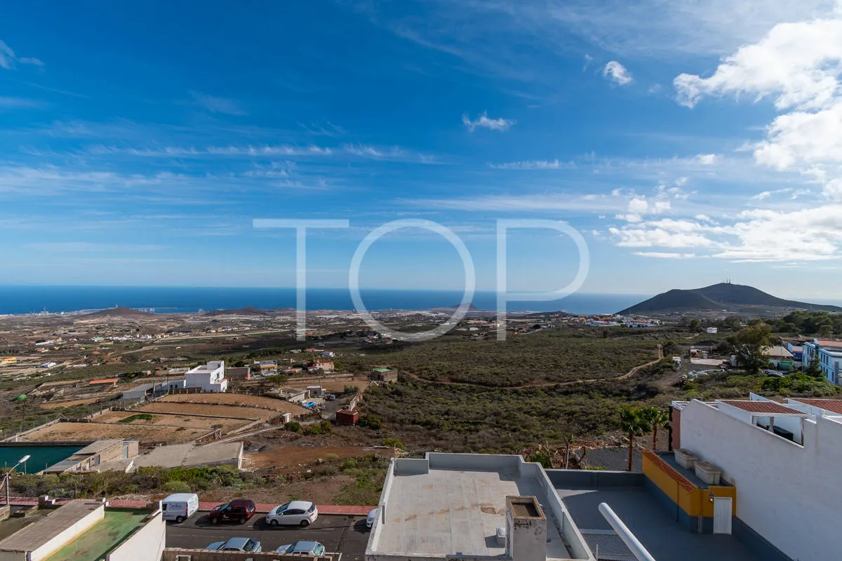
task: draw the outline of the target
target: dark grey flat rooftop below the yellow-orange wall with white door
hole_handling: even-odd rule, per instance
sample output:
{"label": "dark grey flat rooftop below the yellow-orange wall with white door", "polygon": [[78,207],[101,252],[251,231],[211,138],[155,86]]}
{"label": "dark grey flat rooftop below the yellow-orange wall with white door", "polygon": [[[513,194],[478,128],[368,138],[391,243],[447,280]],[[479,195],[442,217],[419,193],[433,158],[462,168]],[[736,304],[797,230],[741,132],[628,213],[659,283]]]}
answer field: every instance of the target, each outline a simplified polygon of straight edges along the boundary
{"label": "dark grey flat rooftop below the yellow-orange wall with white door", "polygon": [[641,486],[556,487],[573,521],[587,530],[610,530],[598,510],[605,502],[658,561],[760,561],[736,537],[689,532]]}

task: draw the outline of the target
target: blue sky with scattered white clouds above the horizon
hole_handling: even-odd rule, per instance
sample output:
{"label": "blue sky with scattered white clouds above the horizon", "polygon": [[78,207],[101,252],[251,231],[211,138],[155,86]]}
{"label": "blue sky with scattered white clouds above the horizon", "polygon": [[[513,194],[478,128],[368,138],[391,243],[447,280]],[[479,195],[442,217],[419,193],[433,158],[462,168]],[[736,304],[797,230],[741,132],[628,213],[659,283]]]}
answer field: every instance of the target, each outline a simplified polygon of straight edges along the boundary
{"label": "blue sky with scattered white clouds above the horizon", "polygon": [[[0,24],[0,283],[347,285],[434,220],[495,288],[496,220],[563,220],[585,292],[838,297],[842,19],[804,0],[17,3]],[[514,231],[509,283],[573,242]],[[461,288],[423,230],[370,288]]]}

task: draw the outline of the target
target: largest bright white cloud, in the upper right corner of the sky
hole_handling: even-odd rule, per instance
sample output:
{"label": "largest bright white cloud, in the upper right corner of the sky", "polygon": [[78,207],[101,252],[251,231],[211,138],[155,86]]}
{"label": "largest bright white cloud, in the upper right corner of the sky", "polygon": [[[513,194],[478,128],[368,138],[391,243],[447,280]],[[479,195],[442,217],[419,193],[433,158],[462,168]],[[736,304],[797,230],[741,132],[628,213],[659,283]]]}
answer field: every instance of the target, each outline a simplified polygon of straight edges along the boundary
{"label": "largest bright white cloud, in the upper right corner of the sky", "polygon": [[[824,173],[842,166],[842,19],[775,25],[727,56],[710,77],[681,74],[679,103],[705,96],[770,98],[779,114],[754,145],[754,160],[776,170]],[[835,172],[839,173],[839,169]]]}

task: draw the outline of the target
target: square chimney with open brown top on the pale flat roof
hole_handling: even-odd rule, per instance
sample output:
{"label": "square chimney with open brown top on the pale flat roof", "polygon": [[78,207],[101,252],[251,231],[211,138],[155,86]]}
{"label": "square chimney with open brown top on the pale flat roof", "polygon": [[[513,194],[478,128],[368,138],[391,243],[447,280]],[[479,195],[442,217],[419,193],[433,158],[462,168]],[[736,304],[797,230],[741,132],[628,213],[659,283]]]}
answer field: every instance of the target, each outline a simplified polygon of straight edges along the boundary
{"label": "square chimney with open brown top on the pale flat roof", "polygon": [[535,497],[506,497],[506,555],[546,561],[546,516]]}

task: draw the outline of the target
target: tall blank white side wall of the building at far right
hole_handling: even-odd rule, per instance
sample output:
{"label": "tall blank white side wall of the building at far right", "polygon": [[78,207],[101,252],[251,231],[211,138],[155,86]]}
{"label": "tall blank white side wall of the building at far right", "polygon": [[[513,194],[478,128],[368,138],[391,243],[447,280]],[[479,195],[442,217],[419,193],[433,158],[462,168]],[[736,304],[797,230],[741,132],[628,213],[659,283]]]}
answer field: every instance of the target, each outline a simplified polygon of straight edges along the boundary
{"label": "tall blank white side wall of the building at far right", "polygon": [[681,446],[722,468],[737,487],[737,516],[793,559],[839,558],[842,424],[803,423],[799,446],[693,400],[681,411]]}

